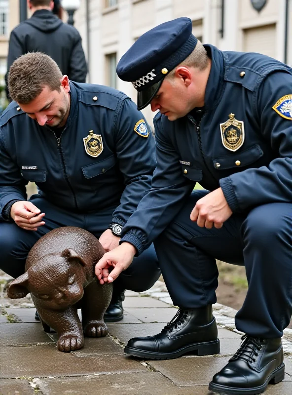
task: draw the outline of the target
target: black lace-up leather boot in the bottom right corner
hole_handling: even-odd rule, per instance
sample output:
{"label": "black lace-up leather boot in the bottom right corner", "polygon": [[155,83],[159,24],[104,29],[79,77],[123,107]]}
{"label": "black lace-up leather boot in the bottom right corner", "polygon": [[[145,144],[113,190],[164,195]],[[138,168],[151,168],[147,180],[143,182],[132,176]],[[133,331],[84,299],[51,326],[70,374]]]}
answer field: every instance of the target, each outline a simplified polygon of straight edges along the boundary
{"label": "black lace-up leather boot in the bottom right corner", "polygon": [[268,384],[284,380],[285,364],[281,338],[261,339],[248,335],[229,362],[209,384],[217,394],[256,395]]}

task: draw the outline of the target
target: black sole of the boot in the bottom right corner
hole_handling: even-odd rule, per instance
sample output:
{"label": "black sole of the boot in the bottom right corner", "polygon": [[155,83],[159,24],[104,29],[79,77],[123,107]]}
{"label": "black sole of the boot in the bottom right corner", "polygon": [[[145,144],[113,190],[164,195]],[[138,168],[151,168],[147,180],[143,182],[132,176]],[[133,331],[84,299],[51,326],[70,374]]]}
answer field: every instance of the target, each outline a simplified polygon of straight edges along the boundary
{"label": "black sole of the boot in the bottom right corner", "polygon": [[258,395],[263,393],[268,384],[277,384],[285,378],[285,363],[282,363],[277,369],[275,369],[267,378],[265,383],[259,387],[254,388],[232,388],[227,386],[222,386],[220,384],[215,384],[211,381],[209,384],[209,391],[213,391],[216,394],[221,395]]}

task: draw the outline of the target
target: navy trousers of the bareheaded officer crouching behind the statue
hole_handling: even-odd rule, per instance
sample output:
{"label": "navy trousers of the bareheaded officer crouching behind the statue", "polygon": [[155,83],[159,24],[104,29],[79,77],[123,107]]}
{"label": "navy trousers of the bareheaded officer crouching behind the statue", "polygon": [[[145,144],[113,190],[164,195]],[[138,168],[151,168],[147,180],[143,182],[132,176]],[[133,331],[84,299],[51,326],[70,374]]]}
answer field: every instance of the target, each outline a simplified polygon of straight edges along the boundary
{"label": "navy trousers of the bareheaded officer crouching behind the statue", "polygon": [[[0,269],[14,278],[24,273],[27,255],[41,236],[61,226],[77,226],[99,238],[108,228],[115,209],[111,207],[103,211],[77,214],[59,208],[38,195],[33,195],[31,202],[45,213],[45,225],[40,226],[37,231],[26,231],[14,222],[0,222]],[[118,276],[114,286],[121,290],[142,292],[154,284],[160,273],[155,250],[151,244]]]}

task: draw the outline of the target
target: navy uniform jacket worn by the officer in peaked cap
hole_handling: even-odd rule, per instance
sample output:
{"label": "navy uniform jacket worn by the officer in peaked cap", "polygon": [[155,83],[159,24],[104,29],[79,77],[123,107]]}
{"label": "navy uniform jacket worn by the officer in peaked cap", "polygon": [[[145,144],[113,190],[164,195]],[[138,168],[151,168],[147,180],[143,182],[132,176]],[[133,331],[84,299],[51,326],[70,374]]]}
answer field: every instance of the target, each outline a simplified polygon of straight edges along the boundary
{"label": "navy uniform jacket worn by the officer in peaked cap", "polygon": [[[221,187],[233,213],[292,202],[292,69],[257,53],[205,48],[212,67],[200,124],[190,114],[175,121],[161,114],[154,118],[152,188],[121,239],[138,253],[174,219],[196,182],[210,191]],[[286,107],[276,112],[273,106],[280,99]],[[243,145],[234,152],[223,145],[220,130],[230,114],[245,131]]]}

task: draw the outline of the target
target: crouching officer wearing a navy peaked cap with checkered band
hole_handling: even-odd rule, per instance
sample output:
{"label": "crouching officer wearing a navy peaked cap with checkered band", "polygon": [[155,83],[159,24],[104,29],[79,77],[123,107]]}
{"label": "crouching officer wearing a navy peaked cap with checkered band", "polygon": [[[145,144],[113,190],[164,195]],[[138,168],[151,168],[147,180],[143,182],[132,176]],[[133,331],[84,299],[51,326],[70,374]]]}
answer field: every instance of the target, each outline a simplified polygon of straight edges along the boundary
{"label": "crouching officer wearing a navy peaked cap with checkered band", "polygon": [[[159,110],[157,168],[96,274],[114,280],[155,239],[180,309],[161,333],[131,339],[125,352],[166,359],[219,353],[215,258],[245,265],[249,289],[235,317],[243,342],[209,389],[259,394],[284,379],[281,337],[292,314],[292,69],[203,46],[191,31],[188,18],[163,23],[118,63],[138,108]],[[192,192],[196,182],[206,190]]]}

